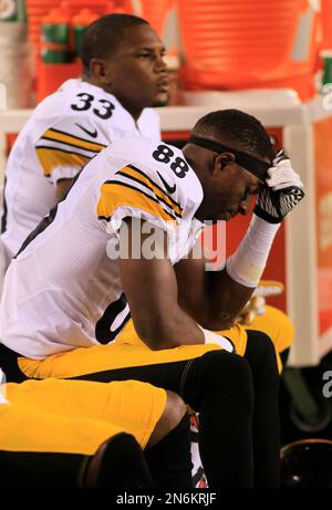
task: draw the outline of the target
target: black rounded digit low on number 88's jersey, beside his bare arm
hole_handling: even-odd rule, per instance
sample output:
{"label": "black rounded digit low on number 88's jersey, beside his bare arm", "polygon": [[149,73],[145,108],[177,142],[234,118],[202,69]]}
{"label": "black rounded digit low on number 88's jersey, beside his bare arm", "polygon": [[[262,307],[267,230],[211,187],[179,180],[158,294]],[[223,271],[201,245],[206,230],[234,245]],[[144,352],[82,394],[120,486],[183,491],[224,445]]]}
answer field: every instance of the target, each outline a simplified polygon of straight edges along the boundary
{"label": "black rounded digit low on number 88's jersey, beside his bare arm", "polygon": [[117,316],[123,313],[126,305],[126,296],[122,293],[117,301],[114,301],[106,308],[103,316],[95,325],[95,337],[101,344],[108,344],[112,342],[131,319],[131,312],[128,312],[121,321],[121,324],[111,331],[112,325],[114,325]]}

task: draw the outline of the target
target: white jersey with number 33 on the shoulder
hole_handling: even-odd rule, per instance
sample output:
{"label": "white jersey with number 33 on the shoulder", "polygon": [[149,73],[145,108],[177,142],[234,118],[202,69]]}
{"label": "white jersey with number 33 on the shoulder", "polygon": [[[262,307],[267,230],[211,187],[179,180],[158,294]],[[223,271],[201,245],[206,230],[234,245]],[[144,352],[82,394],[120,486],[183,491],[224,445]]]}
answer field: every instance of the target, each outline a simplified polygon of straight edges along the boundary
{"label": "white jersey with number 33 on the shoulder", "polygon": [[145,108],[137,121],[101,87],[66,81],[42,101],[19,134],[6,168],[2,235],[17,253],[56,202],[55,184],[73,178],[116,138],[159,138],[159,118]]}

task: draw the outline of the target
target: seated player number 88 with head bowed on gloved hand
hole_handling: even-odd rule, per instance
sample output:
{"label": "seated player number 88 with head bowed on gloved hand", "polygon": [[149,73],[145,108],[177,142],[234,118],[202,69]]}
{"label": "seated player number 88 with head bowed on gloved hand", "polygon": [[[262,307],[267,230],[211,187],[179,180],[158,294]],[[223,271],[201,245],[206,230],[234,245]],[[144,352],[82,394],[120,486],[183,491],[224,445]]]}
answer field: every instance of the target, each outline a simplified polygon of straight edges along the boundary
{"label": "seated player number 88 with head bowed on gloved hand", "polygon": [[[236,252],[225,268],[205,271],[204,257],[190,256],[201,221],[248,214],[253,195]],[[256,331],[231,342],[225,329],[303,195],[290,160],[276,156],[262,125],[239,111],[203,117],[183,152],[116,140],[85,166],[9,268],[1,306],[7,375],[134,378],[175,391],[200,413],[210,487],[278,486],[273,345]],[[125,326],[128,312],[135,330]]]}

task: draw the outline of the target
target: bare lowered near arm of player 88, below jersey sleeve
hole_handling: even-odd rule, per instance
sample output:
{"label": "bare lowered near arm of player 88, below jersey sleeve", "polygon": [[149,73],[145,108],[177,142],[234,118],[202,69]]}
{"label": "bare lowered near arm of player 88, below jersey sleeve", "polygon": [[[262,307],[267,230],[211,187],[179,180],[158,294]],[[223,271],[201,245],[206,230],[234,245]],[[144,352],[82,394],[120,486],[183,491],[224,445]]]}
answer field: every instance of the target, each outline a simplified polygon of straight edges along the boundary
{"label": "bare lowered near arm of player 88, below jersey sleeve", "polygon": [[[132,239],[134,228],[142,231],[141,220],[127,219],[126,226],[128,230],[123,226],[120,231],[120,242],[127,233]],[[121,280],[138,335],[153,350],[204,343],[201,330],[178,304],[177,279],[167,257],[167,233],[160,229],[156,236],[159,242],[151,260],[144,258],[147,237],[142,235],[137,258],[133,257],[131,246],[129,257],[120,260]]]}

